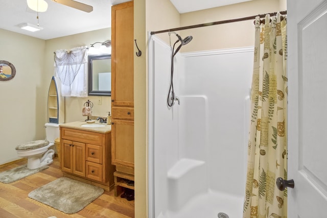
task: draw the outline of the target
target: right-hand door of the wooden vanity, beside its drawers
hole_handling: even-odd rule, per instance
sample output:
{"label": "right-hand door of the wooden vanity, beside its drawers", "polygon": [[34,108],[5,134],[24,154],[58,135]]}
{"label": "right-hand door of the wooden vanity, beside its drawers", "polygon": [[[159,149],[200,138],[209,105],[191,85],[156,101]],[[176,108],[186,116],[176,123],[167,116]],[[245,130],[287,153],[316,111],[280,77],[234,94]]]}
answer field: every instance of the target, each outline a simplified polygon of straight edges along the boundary
{"label": "right-hand door of the wooden vanity, beside its drawers", "polygon": [[85,177],[85,143],[73,141],[73,173]]}

